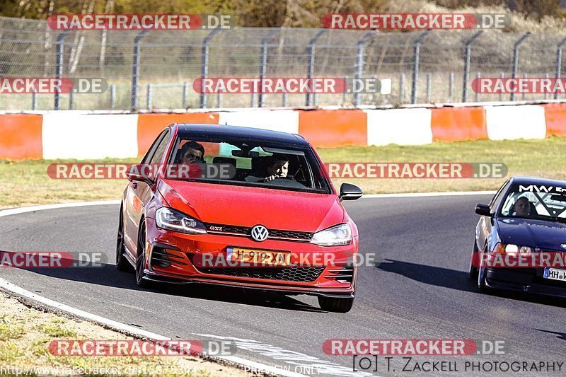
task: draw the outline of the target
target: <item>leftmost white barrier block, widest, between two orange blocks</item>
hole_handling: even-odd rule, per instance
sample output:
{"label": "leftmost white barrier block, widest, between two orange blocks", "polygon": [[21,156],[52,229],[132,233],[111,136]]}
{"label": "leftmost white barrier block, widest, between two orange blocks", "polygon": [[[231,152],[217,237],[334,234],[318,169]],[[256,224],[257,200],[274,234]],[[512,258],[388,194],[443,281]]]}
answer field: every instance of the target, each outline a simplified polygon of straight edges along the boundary
{"label": "leftmost white barrier block, widest, between two orange blocks", "polygon": [[43,158],[137,157],[137,114],[43,115]]}

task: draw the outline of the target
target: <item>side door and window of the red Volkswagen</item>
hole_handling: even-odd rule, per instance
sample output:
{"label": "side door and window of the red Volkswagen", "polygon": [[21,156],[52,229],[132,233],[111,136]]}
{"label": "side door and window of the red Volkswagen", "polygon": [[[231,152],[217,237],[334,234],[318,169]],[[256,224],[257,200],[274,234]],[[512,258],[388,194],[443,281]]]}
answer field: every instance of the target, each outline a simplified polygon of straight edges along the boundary
{"label": "side door and window of the red Volkswagen", "polygon": [[[170,137],[170,129],[163,130],[146,156],[141,160],[141,163],[150,166],[160,164]],[[124,204],[124,242],[127,251],[131,251],[131,253],[137,253],[139,222],[144,214],[146,204],[154,197],[154,186],[150,182],[142,181],[132,181],[128,184]],[[135,255],[131,256],[135,257]]]}

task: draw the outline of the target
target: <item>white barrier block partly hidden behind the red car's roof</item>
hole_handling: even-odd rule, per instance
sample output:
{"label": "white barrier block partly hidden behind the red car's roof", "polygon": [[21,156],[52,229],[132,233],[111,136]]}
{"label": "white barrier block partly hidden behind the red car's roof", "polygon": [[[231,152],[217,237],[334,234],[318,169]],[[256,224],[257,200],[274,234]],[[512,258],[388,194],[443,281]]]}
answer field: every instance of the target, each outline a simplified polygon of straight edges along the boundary
{"label": "white barrier block partly hidden behind the red car's roof", "polygon": [[219,124],[299,133],[299,112],[294,110],[242,110],[220,112]]}

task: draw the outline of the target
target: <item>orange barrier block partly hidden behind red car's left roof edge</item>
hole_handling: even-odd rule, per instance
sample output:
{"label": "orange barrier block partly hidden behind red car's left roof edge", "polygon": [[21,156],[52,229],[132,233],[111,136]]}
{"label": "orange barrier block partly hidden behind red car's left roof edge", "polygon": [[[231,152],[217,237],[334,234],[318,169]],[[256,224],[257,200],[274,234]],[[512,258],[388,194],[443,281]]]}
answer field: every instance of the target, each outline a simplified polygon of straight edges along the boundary
{"label": "orange barrier block partly hidden behind red car's left roof edge", "polygon": [[140,114],[137,120],[138,156],[144,156],[159,132],[171,123],[218,124],[218,114],[185,112],[182,114]]}

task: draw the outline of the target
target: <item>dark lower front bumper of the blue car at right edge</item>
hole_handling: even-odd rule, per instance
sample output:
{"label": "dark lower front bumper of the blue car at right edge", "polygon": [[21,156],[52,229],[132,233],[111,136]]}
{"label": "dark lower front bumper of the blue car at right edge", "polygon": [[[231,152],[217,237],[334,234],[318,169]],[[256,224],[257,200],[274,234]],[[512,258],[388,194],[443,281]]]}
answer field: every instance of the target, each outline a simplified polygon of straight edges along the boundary
{"label": "dark lower front bumper of the blue car at right edge", "polygon": [[485,282],[488,287],[494,289],[566,298],[566,282],[544,279],[543,270],[543,268],[488,268],[485,271]]}

